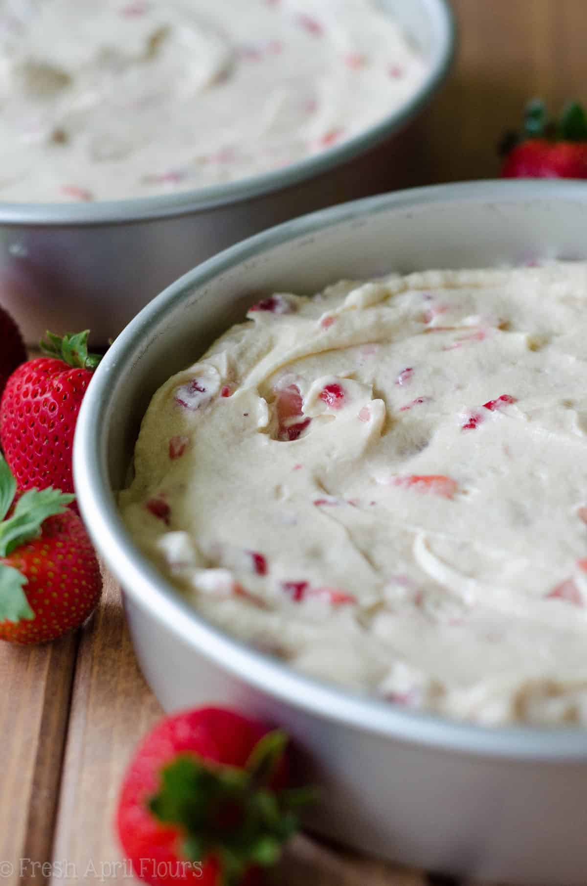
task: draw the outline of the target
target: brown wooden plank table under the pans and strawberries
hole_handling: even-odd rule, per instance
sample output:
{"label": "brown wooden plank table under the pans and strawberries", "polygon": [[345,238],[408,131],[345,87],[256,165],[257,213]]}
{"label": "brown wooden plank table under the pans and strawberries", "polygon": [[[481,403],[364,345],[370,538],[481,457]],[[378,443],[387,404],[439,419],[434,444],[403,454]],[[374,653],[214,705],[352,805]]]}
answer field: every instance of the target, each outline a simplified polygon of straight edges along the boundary
{"label": "brown wooden plank table under the pans and strawberries", "polygon": [[[412,131],[405,183],[497,174],[495,145],[527,97],[587,98],[585,0],[456,0],[455,74]],[[415,136],[415,137],[414,137]],[[160,716],[137,671],[118,588],[105,580],[77,633],[35,649],[0,644],[0,882],[129,882],[112,814],[132,748]],[[43,869],[44,864],[44,869]],[[21,874],[21,875],[20,875]],[[425,886],[448,881],[358,859],[301,836],[279,882]]]}

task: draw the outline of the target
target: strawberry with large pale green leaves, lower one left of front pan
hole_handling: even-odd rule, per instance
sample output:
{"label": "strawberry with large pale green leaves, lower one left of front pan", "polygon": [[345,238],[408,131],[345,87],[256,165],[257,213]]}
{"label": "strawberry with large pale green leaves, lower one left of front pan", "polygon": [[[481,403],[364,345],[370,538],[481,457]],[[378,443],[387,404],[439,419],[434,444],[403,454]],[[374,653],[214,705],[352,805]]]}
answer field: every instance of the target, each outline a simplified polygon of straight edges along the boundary
{"label": "strawberry with large pale green leaves, lower one left of front pan", "polygon": [[14,504],[15,493],[0,455],[0,639],[54,640],[96,606],[98,560],[81,519],[67,508],[73,495],[31,489]]}

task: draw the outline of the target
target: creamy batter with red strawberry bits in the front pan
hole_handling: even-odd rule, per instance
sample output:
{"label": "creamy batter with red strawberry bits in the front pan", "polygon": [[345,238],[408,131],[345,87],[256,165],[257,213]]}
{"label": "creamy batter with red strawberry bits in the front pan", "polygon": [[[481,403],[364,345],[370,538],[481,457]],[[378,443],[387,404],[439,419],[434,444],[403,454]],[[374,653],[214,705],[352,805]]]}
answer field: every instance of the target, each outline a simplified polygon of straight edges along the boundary
{"label": "creamy batter with red strawberry bits in the front pan", "polygon": [[153,397],[129,531],[301,672],[587,725],[586,317],[580,262],[270,295]]}

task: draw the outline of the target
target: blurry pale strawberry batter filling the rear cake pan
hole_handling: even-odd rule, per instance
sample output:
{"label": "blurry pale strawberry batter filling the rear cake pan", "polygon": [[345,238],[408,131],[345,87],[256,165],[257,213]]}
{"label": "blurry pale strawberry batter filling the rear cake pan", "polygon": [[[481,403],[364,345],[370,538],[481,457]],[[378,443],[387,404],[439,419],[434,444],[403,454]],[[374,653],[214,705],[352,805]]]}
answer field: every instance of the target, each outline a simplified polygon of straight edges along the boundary
{"label": "blurry pale strawberry batter filling the rear cake pan", "polygon": [[0,0],[0,198],[232,182],[382,120],[427,65],[376,0]]}

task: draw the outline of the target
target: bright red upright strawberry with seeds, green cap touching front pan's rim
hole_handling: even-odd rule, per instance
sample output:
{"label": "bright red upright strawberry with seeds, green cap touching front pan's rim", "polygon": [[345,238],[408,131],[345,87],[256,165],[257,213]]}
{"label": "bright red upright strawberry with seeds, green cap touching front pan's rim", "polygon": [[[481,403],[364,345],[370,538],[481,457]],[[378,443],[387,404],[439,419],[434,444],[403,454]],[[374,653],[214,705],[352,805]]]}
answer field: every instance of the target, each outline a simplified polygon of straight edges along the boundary
{"label": "bright red upright strawberry with seeds, green cap touching front pan's rim", "polygon": [[29,360],[8,379],[0,400],[0,445],[20,489],[55,486],[74,492],[75,422],[100,357],[88,354],[88,330],[63,338],[47,333],[46,357]]}

